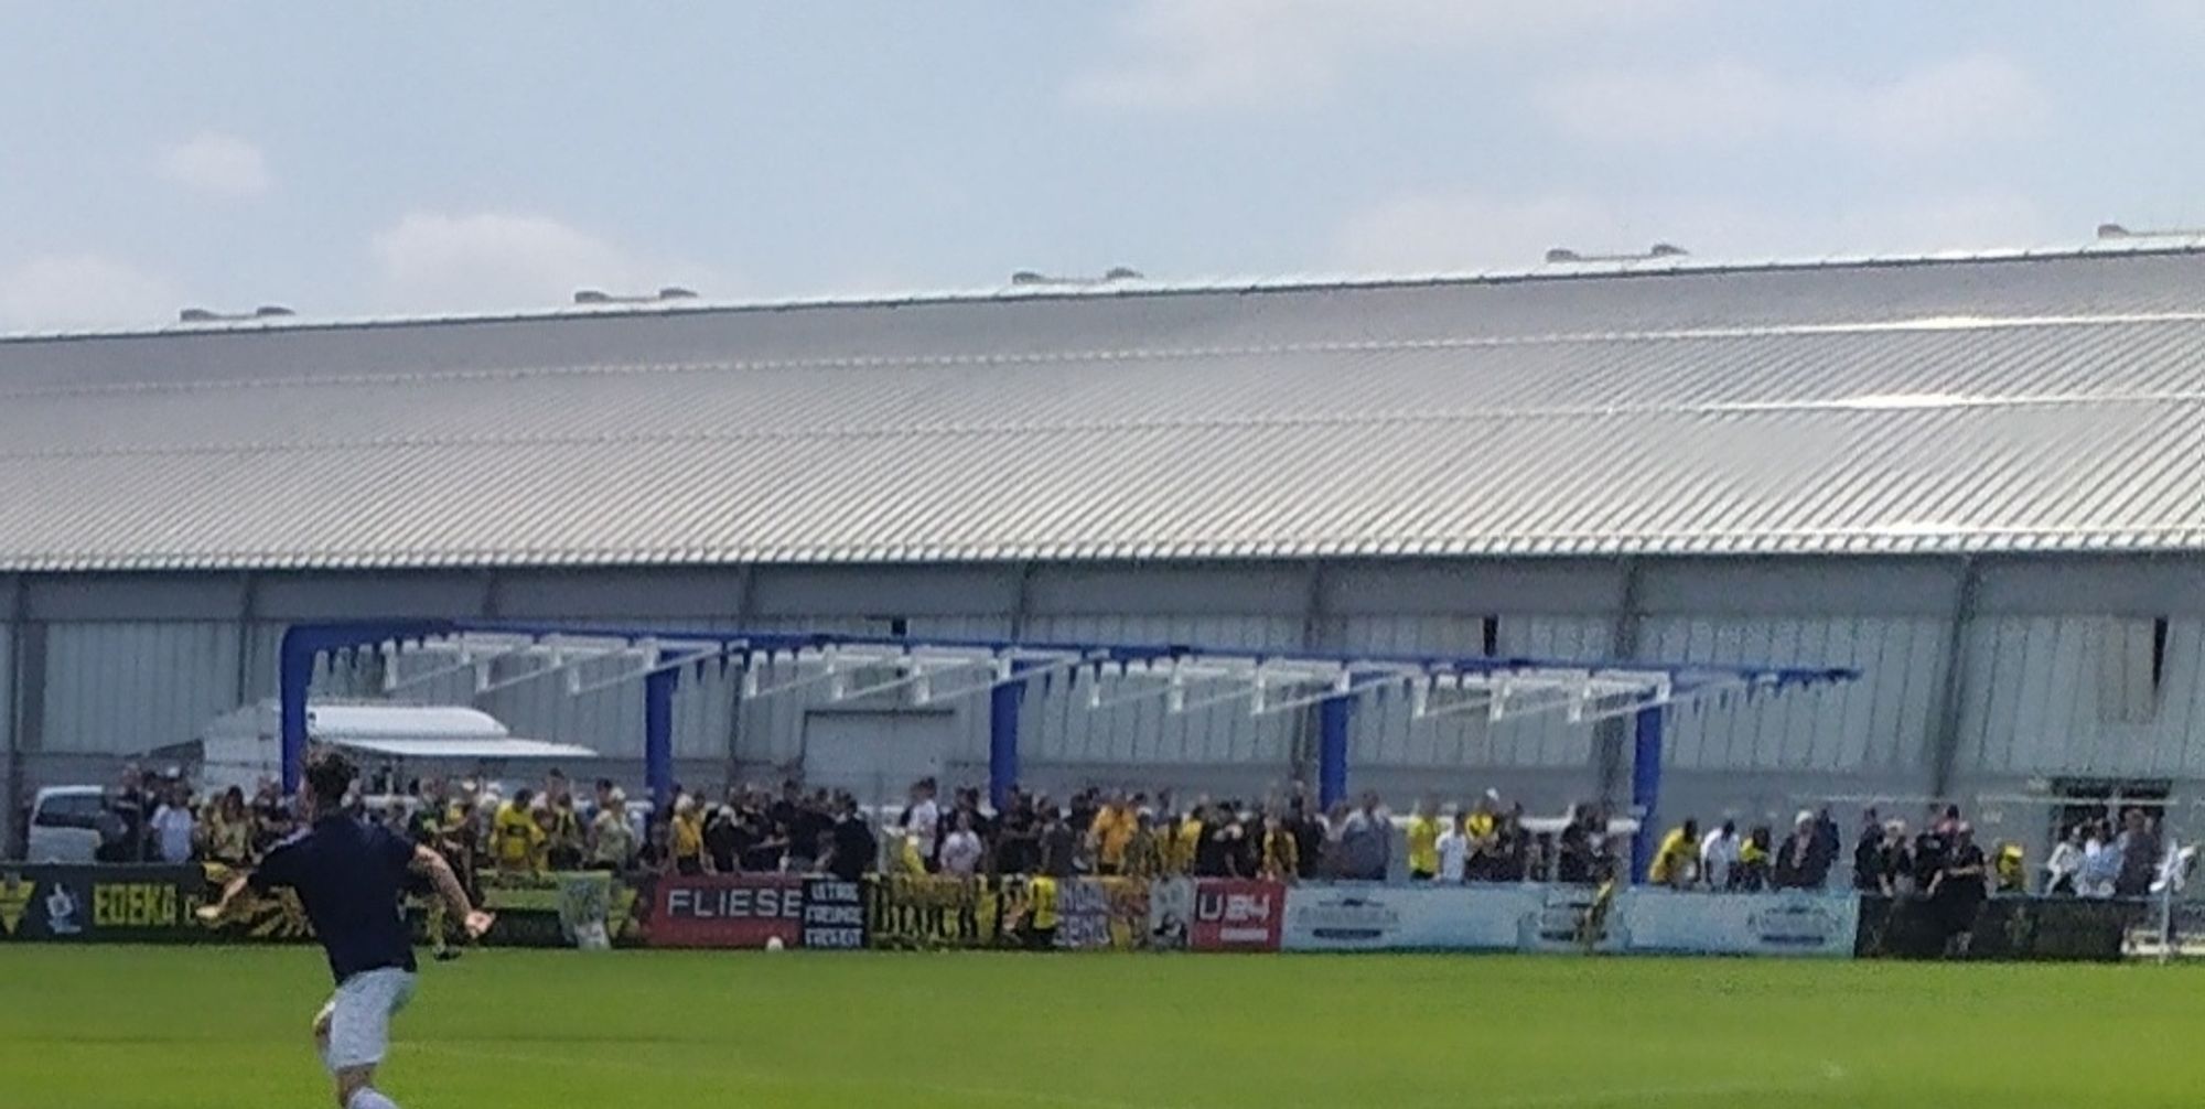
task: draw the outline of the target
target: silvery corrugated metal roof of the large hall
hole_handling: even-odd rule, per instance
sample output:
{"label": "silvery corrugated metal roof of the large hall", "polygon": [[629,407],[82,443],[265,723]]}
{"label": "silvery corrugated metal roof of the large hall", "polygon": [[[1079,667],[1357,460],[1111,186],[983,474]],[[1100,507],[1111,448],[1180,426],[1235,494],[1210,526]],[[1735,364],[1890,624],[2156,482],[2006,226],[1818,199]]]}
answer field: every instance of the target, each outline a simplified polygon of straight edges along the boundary
{"label": "silvery corrugated metal roof of the large hall", "polygon": [[0,569],[2205,549],[2205,254],[0,344]]}

